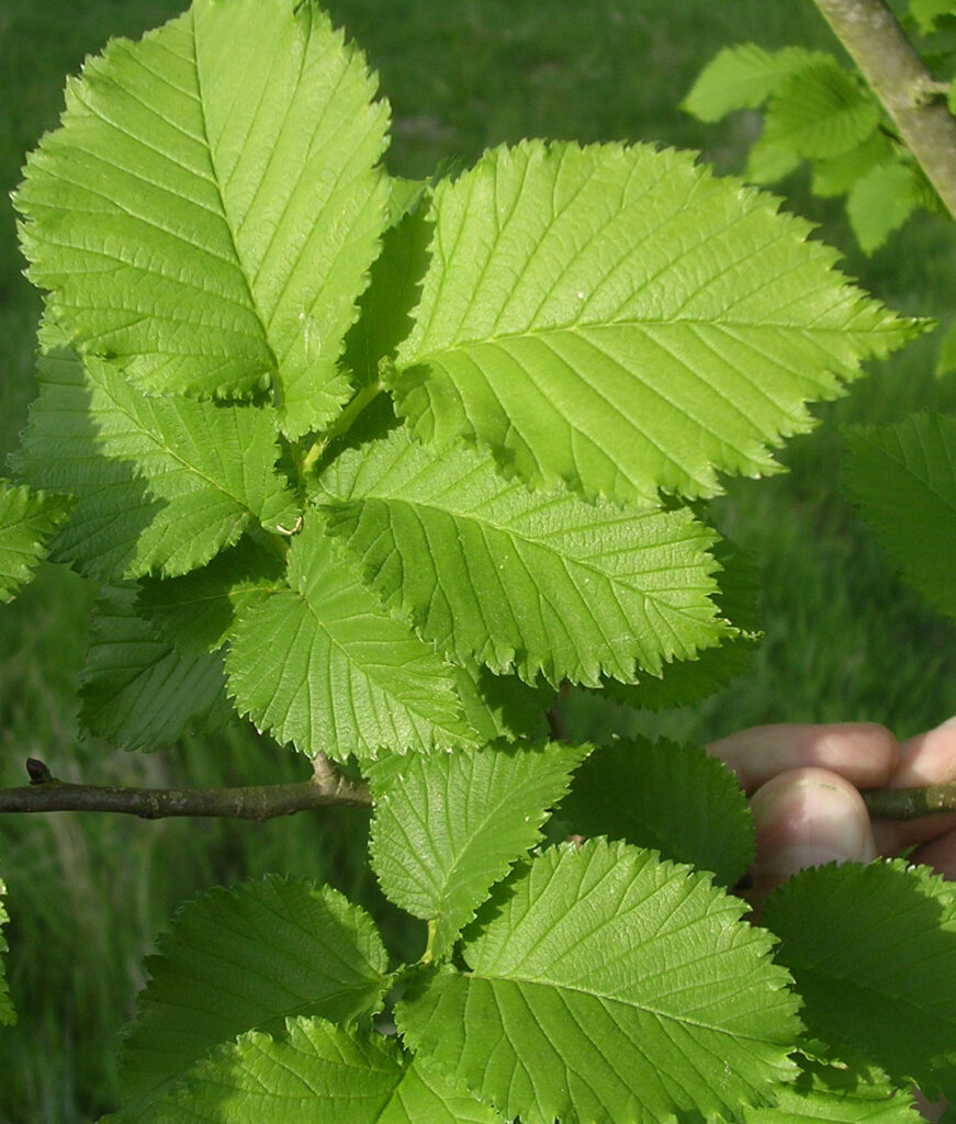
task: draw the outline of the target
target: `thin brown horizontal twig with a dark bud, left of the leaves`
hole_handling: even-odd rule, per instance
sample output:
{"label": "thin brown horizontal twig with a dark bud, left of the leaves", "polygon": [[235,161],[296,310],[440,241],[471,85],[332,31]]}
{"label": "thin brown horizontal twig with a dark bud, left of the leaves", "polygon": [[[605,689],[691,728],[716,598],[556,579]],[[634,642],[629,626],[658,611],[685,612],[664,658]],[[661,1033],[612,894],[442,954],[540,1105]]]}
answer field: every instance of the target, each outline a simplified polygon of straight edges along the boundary
{"label": "thin brown horizontal twig with a dark bud, left of the leaves", "polygon": [[308,808],[370,808],[367,785],[343,777],[324,754],[320,756],[311,780],[207,789],[72,785],[56,780],[42,761],[31,758],[27,762],[29,786],[0,788],[0,812],[120,812],[144,819],[219,816],[263,821]]}

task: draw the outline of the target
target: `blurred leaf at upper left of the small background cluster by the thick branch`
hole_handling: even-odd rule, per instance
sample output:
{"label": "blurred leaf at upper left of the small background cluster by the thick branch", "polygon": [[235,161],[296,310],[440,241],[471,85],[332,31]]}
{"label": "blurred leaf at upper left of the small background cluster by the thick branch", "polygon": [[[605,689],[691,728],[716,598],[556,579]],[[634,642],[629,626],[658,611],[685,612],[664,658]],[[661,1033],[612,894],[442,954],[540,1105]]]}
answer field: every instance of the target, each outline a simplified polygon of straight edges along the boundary
{"label": "blurred leaf at upper left of the small background cluster by the thick branch", "polygon": [[737,109],[756,109],[785,79],[828,57],[803,47],[764,51],[755,43],[725,47],[700,72],[681,109],[702,121],[719,121]]}

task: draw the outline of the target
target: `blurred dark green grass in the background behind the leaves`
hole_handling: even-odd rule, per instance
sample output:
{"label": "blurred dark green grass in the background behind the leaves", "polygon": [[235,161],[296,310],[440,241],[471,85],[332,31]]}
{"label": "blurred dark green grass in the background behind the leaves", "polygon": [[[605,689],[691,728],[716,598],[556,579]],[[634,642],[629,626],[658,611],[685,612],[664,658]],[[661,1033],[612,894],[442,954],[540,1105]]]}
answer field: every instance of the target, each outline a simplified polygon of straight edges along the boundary
{"label": "blurred dark green grass in the background behind the leaves", "polygon": [[[0,0],[0,187],[55,125],[65,73],[109,35],[138,36],[176,0]],[[743,166],[755,120],[704,127],[679,110],[720,46],[829,46],[809,0],[333,0],[337,24],[366,49],[392,103],[392,171],[427,175],[523,136],[652,140],[703,151],[719,171]],[[894,308],[948,317],[956,239],[939,219],[909,224],[873,259],[855,248],[839,205],[787,206],[821,226],[847,271]],[[0,451],[33,397],[38,301],[20,275],[12,210],[0,208]],[[883,722],[905,736],[956,713],[956,634],[908,589],[837,490],[837,427],[956,406],[956,381],[932,377],[935,341],[874,365],[852,395],[817,409],[819,429],[782,455],[786,475],[731,481],[718,525],[763,568],[766,642],[752,672],[703,706],[662,716],[572,700],[591,734],[628,729],[704,740],[776,720]],[[248,783],[301,777],[304,763],[245,726],[154,756],[121,755],[75,737],[75,686],[93,591],[43,568],[0,610],[0,783],[22,782],[27,755],[64,778],[116,783]],[[7,817],[0,871],[9,887],[9,975],[20,1025],[0,1030],[0,1124],[73,1124],[113,1105],[116,1032],[142,985],[140,961],[183,899],[265,870],[326,879],[367,901],[397,953],[420,934],[390,915],[348,860],[366,823],[355,813],[267,825],[74,815]]]}

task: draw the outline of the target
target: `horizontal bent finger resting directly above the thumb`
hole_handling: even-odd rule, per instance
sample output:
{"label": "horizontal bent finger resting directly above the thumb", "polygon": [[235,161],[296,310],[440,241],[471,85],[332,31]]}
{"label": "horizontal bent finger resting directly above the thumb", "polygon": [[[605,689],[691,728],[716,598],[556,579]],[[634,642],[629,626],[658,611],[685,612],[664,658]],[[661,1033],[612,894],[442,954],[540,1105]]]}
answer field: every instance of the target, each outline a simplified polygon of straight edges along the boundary
{"label": "horizontal bent finger resting directly above the thumb", "polygon": [[899,764],[900,746],[873,722],[754,726],[707,746],[736,773],[747,792],[789,769],[829,769],[858,788],[880,788]]}

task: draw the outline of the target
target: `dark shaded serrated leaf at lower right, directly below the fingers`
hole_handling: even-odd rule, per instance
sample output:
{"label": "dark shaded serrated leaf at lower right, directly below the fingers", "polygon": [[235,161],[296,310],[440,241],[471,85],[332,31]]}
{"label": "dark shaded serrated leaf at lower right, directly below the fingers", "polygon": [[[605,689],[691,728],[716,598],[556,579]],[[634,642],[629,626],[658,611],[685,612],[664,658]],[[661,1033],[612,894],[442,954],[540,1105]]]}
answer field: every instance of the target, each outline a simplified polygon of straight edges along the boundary
{"label": "dark shaded serrated leaf at lower right, directly below the fingers", "polygon": [[[812,917],[813,924],[808,924]],[[902,860],[801,871],[768,898],[812,1034],[896,1082],[956,1095],[956,898]]]}

